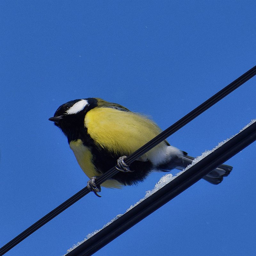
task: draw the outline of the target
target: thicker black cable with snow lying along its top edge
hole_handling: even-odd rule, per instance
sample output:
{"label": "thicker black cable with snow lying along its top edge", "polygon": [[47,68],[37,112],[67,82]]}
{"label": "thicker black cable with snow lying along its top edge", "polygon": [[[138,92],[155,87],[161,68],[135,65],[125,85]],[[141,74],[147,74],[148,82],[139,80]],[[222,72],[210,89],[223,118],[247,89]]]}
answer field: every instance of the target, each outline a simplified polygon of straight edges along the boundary
{"label": "thicker black cable with snow lying along its top edge", "polygon": [[256,122],[191,166],[66,256],[90,256],[256,140]]}

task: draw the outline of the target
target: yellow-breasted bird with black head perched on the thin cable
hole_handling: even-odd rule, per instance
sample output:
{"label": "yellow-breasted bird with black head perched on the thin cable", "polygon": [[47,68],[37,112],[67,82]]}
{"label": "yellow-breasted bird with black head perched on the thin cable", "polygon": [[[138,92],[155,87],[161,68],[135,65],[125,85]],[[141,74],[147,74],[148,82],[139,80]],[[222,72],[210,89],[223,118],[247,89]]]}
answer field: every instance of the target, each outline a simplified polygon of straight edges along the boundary
{"label": "yellow-breasted bird with black head perched on the thin cable", "polygon": [[[100,185],[96,185],[98,177],[113,166],[121,172],[101,186],[121,188],[135,185],[151,172],[183,170],[195,159],[164,140],[130,165],[126,164],[127,156],[162,130],[149,117],[100,98],[68,101],[49,120],[66,135],[78,164],[90,179],[87,188],[97,196],[101,190]],[[222,164],[203,179],[219,184],[232,168]]]}

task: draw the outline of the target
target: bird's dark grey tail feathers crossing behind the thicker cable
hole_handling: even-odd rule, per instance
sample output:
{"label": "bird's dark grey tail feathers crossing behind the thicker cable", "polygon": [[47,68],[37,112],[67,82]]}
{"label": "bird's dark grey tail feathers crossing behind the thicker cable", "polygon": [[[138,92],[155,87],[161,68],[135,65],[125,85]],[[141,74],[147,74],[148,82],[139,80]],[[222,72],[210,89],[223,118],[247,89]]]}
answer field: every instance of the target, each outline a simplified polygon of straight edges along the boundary
{"label": "bird's dark grey tail feathers crossing behind the thicker cable", "polygon": [[[182,156],[182,164],[180,166],[176,166],[176,169],[183,170],[186,168],[189,164],[192,163],[192,161],[195,158],[192,156],[188,155],[183,155]],[[228,174],[232,171],[233,167],[227,164],[221,164],[218,168],[214,169],[212,172],[208,173],[207,175],[204,176],[204,180],[207,180],[208,182],[212,184],[219,184],[222,180],[223,177],[228,176]]]}

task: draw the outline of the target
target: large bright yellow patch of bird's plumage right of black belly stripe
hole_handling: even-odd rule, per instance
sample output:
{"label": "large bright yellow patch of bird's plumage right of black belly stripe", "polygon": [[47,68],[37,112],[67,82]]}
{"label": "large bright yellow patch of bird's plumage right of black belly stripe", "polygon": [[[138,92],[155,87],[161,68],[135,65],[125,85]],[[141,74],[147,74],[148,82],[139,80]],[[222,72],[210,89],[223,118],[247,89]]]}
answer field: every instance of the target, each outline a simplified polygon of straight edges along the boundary
{"label": "large bright yellow patch of bird's plumage right of black belly stripe", "polygon": [[[96,107],[84,119],[91,138],[102,148],[118,155],[130,155],[161,132],[148,118],[114,108]],[[161,142],[142,158],[164,148]]]}

